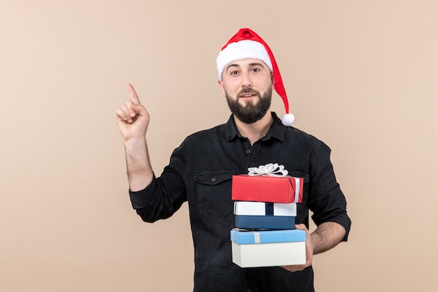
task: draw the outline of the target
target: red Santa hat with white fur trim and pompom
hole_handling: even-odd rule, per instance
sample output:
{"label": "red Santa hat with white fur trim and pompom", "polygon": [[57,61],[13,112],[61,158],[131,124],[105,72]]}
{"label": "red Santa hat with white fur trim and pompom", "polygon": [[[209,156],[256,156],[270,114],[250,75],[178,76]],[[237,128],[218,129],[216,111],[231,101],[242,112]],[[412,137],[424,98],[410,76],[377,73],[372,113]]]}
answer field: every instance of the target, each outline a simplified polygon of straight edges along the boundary
{"label": "red Santa hat with white fur trim and pompom", "polygon": [[251,29],[239,29],[237,34],[234,34],[231,39],[222,47],[218,58],[216,59],[216,65],[218,66],[219,80],[222,80],[222,72],[227,64],[244,59],[256,59],[261,60],[274,74],[274,88],[281,99],[283,99],[285,107],[285,115],[283,116],[282,123],[285,126],[290,126],[295,120],[295,116],[289,113],[288,96],[284,89],[283,80],[281,79],[280,71],[278,70],[277,63],[271,49]]}

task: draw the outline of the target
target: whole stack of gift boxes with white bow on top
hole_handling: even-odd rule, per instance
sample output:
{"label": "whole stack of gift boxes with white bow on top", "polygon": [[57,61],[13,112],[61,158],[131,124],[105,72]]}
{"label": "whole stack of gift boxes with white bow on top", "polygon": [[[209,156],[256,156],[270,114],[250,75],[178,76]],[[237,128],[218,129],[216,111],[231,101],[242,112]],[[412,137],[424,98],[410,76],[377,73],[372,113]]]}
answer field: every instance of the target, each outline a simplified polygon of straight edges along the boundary
{"label": "whole stack of gift boxes with white bow on top", "polygon": [[[275,170],[282,176],[274,174]],[[295,229],[303,179],[287,176],[283,166],[250,167],[232,177],[235,227],[232,261],[240,267],[303,265],[306,232]],[[278,172],[277,172],[278,173]]]}

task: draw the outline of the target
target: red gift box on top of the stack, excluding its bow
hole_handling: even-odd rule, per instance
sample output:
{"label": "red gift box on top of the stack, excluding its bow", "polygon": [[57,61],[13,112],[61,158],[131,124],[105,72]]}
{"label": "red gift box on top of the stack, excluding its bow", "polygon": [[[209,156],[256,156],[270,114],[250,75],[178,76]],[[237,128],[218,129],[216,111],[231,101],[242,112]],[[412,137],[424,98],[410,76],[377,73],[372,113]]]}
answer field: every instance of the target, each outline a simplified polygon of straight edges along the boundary
{"label": "red gift box on top of the stack, excluding its bow", "polygon": [[232,200],[274,203],[300,203],[304,179],[292,176],[232,176]]}

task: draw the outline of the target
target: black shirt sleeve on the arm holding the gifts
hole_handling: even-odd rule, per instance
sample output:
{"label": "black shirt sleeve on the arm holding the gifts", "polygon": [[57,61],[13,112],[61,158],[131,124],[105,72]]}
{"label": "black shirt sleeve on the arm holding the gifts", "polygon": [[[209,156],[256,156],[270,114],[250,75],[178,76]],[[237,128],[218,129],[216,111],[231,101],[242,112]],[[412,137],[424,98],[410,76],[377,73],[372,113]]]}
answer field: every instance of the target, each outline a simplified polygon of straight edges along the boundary
{"label": "black shirt sleeve on the arm holding the gifts", "polygon": [[346,206],[344,193],[337,183],[330,161],[330,148],[320,141],[311,153],[309,209],[313,211],[313,222],[316,225],[324,222],[339,223],[346,230],[346,241],[351,227]]}

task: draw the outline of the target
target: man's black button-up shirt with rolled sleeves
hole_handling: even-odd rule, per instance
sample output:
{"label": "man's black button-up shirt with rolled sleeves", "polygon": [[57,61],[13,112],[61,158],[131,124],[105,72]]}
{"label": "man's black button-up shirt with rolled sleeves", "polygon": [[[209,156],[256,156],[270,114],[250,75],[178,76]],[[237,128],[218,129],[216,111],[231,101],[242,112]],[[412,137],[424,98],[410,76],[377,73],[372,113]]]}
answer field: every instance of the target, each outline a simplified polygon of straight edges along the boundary
{"label": "man's black button-up shirt with rolled sleeves", "polygon": [[290,176],[304,177],[296,223],[309,228],[309,209],[319,225],[351,221],[337,183],[330,148],[294,127],[285,127],[272,113],[266,136],[252,146],[231,116],[224,125],[190,135],[171,155],[160,177],[139,192],[130,192],[143,221],[169,218],[188,201],[195,246],[195,291],[313,291],[313,270],[288,272],[281,267],[241,268],[232,263],[229,230],[234,228],[232,175],[268,163],[284,165]]}

